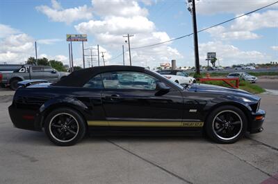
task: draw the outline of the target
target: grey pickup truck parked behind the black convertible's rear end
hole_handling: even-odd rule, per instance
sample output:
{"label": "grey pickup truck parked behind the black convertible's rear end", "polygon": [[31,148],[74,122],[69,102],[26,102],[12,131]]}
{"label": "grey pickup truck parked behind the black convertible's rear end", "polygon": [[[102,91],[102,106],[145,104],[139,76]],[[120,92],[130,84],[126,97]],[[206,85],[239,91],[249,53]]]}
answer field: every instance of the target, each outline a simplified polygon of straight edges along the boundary
{"label": "grey pickup truck parked behind the black convertible's rear end", "polygon": [[22,80],[56,81],[66,77],[69,73],[58,72],[51,66],[23,66],[13,73],[0,73],[1,86],[9,85],[10,89],[17,89],[17,83]]}

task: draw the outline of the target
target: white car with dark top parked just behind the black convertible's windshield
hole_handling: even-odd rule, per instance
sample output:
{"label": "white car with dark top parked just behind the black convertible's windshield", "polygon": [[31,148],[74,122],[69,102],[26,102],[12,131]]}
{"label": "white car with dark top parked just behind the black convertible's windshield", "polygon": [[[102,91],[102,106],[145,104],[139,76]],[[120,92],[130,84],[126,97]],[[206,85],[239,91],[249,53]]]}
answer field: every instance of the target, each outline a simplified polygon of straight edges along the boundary
{"label": "white car with dark top parked just behind the black convertible's windshield", "polygon": [[188,73],[181,70],[162,70],[157,71],[157,73],[181,85],[190,85],[196,82],[195,78],[190,77]]}

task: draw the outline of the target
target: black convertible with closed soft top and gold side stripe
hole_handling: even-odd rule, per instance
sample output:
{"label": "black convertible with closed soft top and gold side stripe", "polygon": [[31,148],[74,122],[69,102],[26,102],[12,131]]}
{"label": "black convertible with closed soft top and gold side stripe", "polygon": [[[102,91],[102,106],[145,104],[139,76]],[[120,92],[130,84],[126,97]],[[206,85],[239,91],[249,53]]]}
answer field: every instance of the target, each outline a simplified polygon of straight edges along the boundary
{"label": "black convertible with closed soft top and gold side stripe", "polygon": [[56,83],[22,82],[9,107],[15,127],[44,130],[57,145],[74,145],[94,131],[204,132],[220,143],[257,133],[265,119],[260,98],[206,84],[183,87],[138,66],[74,71]]}

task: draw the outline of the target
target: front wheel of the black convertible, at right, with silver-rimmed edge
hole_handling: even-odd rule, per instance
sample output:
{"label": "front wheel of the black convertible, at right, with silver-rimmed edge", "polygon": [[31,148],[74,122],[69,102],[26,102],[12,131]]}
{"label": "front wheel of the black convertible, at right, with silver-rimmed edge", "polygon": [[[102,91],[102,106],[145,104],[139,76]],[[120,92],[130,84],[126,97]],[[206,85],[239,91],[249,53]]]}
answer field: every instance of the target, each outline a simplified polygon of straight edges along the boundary
{"label": "front wheel of the black convertible, at right, with silver-rimmed edge", "polygon": [[205,130],[208,137],[215,142],[231,144],[245,134],[247,118],[243,111],[237,107],[224,105],[208,115],[205,122]]}

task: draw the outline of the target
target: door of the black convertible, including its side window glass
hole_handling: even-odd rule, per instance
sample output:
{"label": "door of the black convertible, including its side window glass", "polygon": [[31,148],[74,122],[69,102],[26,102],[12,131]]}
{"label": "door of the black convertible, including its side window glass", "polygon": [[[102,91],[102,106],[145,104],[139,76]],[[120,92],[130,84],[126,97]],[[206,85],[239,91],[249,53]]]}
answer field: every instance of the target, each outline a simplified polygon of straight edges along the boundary
{"label": "door of the black convertible, including its side window glass", "polygon": [[101,78],[101,101],[110,126],[181,127],[183,97],[179,90],[161,93],[156,89],[161,80],[136,71],[102,73]]}

